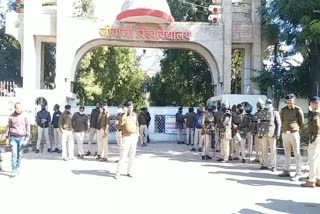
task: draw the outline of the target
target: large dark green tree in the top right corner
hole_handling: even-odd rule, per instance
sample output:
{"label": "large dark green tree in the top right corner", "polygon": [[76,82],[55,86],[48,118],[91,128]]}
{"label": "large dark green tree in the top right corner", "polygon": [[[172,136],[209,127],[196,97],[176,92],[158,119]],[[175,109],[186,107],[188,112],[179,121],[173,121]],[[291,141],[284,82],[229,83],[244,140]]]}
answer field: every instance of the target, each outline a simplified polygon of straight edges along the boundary
{"label": "large dark green tree in the top right corner", "polygon": [[261,8],[265,30],[273,33],[274,44],[284,42],[292,47],[292,53],[300,51],[304,57],[302,66],[292,69],[291,80],[292,84],[302,81],[298,85],[306,86],[301,93],[304,96],[315,93],[315,83],[320,82],[320,14],[316,13],[319,5],[320,0],[273,0],[264,1]]}

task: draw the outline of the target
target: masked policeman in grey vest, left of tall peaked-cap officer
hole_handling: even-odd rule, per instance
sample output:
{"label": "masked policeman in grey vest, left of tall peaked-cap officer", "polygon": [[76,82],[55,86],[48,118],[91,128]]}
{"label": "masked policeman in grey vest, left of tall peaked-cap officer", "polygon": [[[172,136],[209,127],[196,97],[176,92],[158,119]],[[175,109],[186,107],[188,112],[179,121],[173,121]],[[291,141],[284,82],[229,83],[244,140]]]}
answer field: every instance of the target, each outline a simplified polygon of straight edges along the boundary
{"label": "masked policeman in grey vest, left of tall peaked-cap officer", "polygon": [[281,120],[279,112],[272,107],[272,100],[267,99],[265,108],[260,114],[259,136],[262,143],[262,166],[268,169],[268,148],[270,147],[271,171],[276,171],[277,139],[280,138]]}

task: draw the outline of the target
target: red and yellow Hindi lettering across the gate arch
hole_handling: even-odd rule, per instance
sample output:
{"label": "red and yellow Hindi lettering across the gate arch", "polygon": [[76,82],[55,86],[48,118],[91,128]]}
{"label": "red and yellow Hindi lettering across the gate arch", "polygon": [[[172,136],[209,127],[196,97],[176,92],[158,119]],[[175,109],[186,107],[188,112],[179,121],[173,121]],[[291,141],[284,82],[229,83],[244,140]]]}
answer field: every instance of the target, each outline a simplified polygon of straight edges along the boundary
{"label": "red and yellow Hindi lettering across the gate arch", "polygon": [[126,24],[121,28],[112,28],[106,25],[99,29],[99,34],[108,39],[131,39],[151,41],[189,41],[191,31],[174,31],[156,28],[145,28],[141,25]]}

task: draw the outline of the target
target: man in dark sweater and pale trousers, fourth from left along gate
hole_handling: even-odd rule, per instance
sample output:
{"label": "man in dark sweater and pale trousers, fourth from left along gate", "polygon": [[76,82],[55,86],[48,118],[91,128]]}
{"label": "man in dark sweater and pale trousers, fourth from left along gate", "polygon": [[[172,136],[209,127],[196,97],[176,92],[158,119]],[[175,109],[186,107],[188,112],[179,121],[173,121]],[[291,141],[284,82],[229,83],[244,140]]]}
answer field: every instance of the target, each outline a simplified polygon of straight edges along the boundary
{"label": "man in dark sweater and pale trousers, fourth from left along gate", "polygon": [[72,116],[72,127],[78,145],[78,158],[83,159],[83,139],[85,133],[88,131],[88,115],[84,113],[84,106],[80,106],[79,112],[74,113]]}

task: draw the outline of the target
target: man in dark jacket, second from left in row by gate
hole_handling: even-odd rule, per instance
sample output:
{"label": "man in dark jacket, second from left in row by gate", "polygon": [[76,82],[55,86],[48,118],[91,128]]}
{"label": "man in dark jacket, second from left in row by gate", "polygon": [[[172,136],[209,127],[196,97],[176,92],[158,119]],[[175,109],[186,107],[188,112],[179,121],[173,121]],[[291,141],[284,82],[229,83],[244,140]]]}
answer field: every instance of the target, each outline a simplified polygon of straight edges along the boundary
{"label": "man in dark jacket, second from left in row by gate", "polygon": [[52,116],[51,124],[53,126],[53,137],[54,137],[54,144],[52,145],[52,152],[61,153],[61,132],[59,130],[59,117],[62,114],[59,110],[60,106],[55,104],[53,107],[54,113]]}

